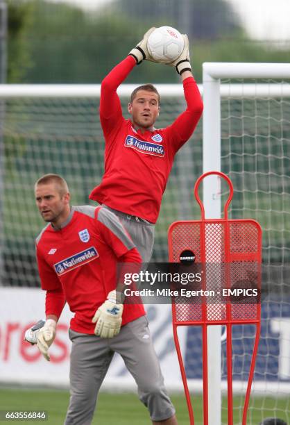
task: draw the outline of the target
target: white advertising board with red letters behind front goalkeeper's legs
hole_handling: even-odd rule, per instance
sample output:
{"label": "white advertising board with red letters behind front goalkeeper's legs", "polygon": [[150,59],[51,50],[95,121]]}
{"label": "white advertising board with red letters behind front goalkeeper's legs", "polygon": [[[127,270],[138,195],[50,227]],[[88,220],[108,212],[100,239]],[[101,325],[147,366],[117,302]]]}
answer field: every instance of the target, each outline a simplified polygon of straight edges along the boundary
{"label": "white advertising board with red letters behind front goalkeeper's legs", "polygon": [[[51,362],[47,362],[36,346],[24,341],[28,327],[44,318],[45,292],[35,288],[0,288],[0,382],[36,385],[69,386],[68,336],[72,317],[65,306],[56,340],[50,349]],[[147,305],[151,335],[160,358],[165,382],[169,386],[180,383],[180,369],[173,344],[171,306]],[[180,344],[185,348],[185,328],[178,331]],[[131,389],[135,386],[123,360],[115,355],[105,378],[103,388]]]}

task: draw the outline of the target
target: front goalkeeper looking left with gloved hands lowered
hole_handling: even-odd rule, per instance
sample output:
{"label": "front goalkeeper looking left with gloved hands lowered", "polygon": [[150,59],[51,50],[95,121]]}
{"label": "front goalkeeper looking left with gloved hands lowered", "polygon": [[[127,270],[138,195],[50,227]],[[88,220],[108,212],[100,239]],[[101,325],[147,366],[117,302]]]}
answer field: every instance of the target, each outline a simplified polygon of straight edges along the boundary
{"label": "front goalkeeper looking left with gloved hands lowered", "polygon": [[69,327],[71,397],[65,425],[91,424],[115,352],[135,378],[152,424],[176,425],[144,306],[123,305],[118,292],[117,263],[134,263],[139,269],[142,261],[127,231],[106,208],[70,206],[67,183],[57,174],[46,174],[35,183],[35,201],[47,222],[36,240],[46,322],[26,331],[26,340],[50,360],[49,347],[67,301],[74,317]]}

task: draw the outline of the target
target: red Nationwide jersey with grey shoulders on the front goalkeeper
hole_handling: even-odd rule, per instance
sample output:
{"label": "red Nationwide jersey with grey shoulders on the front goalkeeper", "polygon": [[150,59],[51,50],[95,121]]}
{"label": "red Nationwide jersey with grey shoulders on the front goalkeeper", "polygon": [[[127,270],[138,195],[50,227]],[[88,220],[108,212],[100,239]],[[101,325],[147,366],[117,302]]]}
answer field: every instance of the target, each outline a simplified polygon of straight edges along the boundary
{"label": "red Nationwide jersey with grey shoulders on the front goalkeeper", "polygon": [[[92,317],[116,289],[117,262],[141,263],[119,219],[106,208],[72,207],[60,229],[48,224],[36,240],[37,265],[46,290],[46,315],[60,317],[65,300],[75,313],[71,329],[94,333]],[[126,304],[122,325],[145,314],[142,304]]]}

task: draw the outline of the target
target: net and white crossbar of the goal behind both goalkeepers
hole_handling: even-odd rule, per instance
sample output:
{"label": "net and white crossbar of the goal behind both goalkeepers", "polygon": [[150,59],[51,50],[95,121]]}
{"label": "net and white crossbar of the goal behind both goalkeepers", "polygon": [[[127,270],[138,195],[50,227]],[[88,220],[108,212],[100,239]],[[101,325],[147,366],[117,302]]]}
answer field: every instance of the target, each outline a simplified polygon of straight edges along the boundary
{"label": "net and white crossbar of the goal behind both goalkeepers", "polygon": [[[119,91],[126,117],[129,117],[127,105],[133,88],[124,85]],[[182,85],[157,85],[157,88],[162,97],[157,128],[162,128],[184,110],[185,101]],[[0,91],[4,152],[0,184],[2,285],[38,285],[34,238],[43,222],[33,194],[37,178],[50,172],[64,176],[74,205],[89,203],[89,193],[100,183],[104,141],[99,122],[99,92],[97,85],[91,88],[12,85],[3,88],[2,94]],[[171,172],[155,230],[155,261],[167,261],[169,224],[176,218],[193,215],[191,189],[202,171],[201,149],[199,124],[178,153]]]}

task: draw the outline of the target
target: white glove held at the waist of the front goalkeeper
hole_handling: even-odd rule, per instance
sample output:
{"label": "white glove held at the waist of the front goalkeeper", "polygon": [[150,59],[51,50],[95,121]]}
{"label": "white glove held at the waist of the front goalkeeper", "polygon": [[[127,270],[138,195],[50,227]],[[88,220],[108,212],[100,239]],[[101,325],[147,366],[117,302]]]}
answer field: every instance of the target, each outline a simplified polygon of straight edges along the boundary
{"label": "white glove held at the waist of the front goalkeeper", "polygon": [[96,310],[92,322],[96,323],[94,333],[101,338],[118,335],[122,324],[123,304],[119,292],[111,291],[108,299]]}

